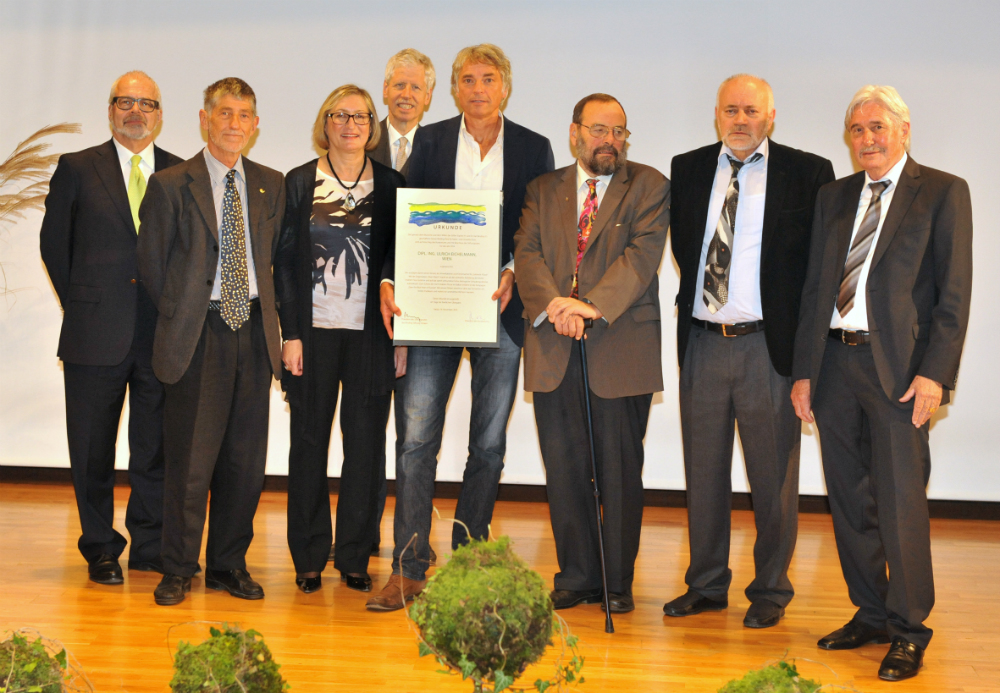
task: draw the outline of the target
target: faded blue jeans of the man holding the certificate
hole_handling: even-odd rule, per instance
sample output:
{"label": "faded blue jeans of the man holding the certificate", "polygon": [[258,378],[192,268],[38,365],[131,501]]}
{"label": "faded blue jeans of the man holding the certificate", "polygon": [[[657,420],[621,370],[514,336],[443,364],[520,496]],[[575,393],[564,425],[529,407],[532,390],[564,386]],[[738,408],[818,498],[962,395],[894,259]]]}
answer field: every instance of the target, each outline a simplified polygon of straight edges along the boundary
{"label": "faded blue jeans of the man holding the certificate", "polygon": [[[392,572],[423,580],[430,558],[434,477],[441,451],[445,411],[463,347],[410,347],[406,376],[396,381],[396,512]],[[517,392],[521,348],[500,327],[498,349],[470,347],[472,416],[469,422],[469,458],[462,476],[455,518],[475,538],[486,537],[493,519],[503,457],[507,449],[507,422]],[[416,538],[414,538],[416,535]],[[467,540],[456,524],[452,549]]]}

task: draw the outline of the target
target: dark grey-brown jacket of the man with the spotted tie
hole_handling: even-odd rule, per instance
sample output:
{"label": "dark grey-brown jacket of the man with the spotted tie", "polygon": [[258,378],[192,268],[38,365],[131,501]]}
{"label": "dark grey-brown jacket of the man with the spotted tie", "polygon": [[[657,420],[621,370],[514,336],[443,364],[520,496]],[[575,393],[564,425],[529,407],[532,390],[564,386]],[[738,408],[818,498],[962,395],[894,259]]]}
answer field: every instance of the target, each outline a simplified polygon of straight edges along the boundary
{"label": "dark grey-brown jacket of the man with the spotted tie", "polygon": [[[250,245],[271,371],[281,373],[281,338],[271,265],[285,211],[283,176],[243,158]],[[219,262],[219,224],[204,153],[149,179],[139,208],[139,277],[159,309],[153,372],[180,380],[198,346]]]}

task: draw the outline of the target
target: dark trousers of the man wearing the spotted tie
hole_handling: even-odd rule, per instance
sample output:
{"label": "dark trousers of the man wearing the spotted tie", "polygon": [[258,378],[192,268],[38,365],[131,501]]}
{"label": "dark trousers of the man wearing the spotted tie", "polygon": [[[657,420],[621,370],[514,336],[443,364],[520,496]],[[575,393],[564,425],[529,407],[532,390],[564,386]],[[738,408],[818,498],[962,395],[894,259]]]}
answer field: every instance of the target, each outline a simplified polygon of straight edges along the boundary
{"label": "dark trousers of the man wearing the spotted tie", "polygon": [[206,567],[246,568],[264,487],[270,388],[260,306],[236,332],[209,311],[187,371],[166,386],[165,572],[197,572],[209,492]]}

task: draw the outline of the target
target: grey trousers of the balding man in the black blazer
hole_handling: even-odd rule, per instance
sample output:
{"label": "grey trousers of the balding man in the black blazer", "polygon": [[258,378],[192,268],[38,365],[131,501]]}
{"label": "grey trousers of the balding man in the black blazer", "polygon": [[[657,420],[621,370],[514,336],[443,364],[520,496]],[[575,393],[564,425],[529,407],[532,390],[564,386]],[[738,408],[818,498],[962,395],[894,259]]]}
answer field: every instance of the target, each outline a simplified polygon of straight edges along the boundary
{"label": "grey trousers of the balding man in the black blazer", "polygon": [[747,598],[785,606],[798,536],[799,446],[802,425],[791,401],[791,378],[771,364],[763,332],[724,337],[691,328],[680,373],[681,429],[687,480],[689,589],[725,600],[732,582],[733,442],[737,422],[753,499],[754,579]]}

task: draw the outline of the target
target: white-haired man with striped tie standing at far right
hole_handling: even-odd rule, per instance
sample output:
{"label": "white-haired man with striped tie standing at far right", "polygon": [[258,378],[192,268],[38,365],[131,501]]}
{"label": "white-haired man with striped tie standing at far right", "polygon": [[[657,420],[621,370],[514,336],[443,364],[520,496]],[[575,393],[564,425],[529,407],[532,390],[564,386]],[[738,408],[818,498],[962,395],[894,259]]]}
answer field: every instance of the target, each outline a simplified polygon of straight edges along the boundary
{"label": "white-haired man with striped tie standing at far right", "polygon": [[[955,387],[972,293],[972,203],[919,165],[910,111],[868,85],[844,119],[864,169],[820,191],[792,401],[816,416],[851,621],[818,645],[892,642],[879,677],[915,676],[932,631],[929,421]],[[886,568],[888,567],[888,577]]]}

